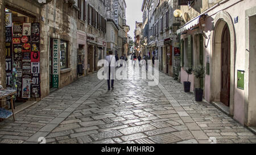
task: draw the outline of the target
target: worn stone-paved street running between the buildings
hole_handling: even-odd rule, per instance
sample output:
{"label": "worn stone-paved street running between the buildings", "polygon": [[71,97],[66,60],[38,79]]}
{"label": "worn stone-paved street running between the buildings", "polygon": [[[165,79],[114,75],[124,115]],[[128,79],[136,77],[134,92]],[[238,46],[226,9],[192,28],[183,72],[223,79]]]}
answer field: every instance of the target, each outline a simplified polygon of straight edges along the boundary
{"label": "worn stone-paved street running between the buildings", "polygon": [[[131,74],[133,70],[130,70]],[[0,143],[170,144],[256,143],[256,136],[212,104],[195,102],[183,85],[159,73],[158,86],[144,80],[115,81],[108,91],[97,73],[57,90],[0,123]]]}

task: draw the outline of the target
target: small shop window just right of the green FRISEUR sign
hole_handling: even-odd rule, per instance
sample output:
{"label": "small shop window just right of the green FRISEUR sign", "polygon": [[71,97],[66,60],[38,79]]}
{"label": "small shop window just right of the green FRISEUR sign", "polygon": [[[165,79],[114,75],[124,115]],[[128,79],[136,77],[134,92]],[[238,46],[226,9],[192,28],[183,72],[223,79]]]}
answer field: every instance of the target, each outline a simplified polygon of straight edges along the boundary
{"label": "small shop window just right of the green FRISEUR sign", "polygon": [[60,69],[68,68],[68,41],[60,40]]}

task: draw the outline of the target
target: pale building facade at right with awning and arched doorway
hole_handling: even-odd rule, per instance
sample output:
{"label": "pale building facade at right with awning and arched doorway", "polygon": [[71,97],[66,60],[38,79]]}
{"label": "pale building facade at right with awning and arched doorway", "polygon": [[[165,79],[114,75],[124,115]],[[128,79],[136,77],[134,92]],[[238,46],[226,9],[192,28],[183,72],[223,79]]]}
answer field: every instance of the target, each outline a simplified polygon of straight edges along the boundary
{"label": "pale building facade at right with awning and arched doorway", "polygon": [[[249,127],[256,126],[256,1],[179,1],[185,24],[181,35],[181,82],[185,68],[206,68],[204,79],[191,76],[191,89]],[[189,5],[189,6],[188,6]],[[250,52],[249,52],[250,51]]]}

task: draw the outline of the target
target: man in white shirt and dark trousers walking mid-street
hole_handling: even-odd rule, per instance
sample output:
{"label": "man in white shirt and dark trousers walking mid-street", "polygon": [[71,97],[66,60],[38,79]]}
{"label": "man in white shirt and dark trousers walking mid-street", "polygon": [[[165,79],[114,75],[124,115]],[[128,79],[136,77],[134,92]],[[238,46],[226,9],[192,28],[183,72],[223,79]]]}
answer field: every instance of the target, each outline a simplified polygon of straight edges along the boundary
{"label": "man in white shirt and dark trousers walking mid-street", "polygon": [[[111,81],[111,88],[114,89],[114,76],[115,76],[115,56],[113,55],[113,51],[109,51],[109,56],[106,56],[106,60],[109,62],[108,66],[108,90],[110,90],[110,79]],[[112,77],[110,76],[112,75]]]}

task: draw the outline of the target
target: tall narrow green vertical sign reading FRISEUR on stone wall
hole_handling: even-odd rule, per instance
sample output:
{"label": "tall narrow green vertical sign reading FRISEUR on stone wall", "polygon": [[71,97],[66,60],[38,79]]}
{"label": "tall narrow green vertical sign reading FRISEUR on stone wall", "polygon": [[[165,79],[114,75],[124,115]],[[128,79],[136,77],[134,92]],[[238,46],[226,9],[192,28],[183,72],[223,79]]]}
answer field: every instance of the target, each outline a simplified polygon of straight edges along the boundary
{"label": "tall narrow green vertical sign reading FRISEUR on stone wall", "polygon": [[59,41],[53,39],[53,87],[59,87]]}

